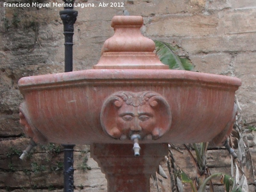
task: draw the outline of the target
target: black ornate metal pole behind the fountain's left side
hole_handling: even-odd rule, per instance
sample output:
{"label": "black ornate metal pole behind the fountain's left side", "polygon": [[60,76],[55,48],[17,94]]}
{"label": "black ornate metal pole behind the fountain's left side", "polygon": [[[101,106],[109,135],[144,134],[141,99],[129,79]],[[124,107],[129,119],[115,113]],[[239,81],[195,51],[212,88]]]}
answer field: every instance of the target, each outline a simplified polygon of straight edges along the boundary
{"label": "black ornate metal pole behind the fountain's left side", "polygon": [[[73,71],[73,35],[74,24],[78,12],[74,11],[75,0],[62,0],[65,3],[64,10],[60,11],[65,36],[65,72]],[[74,152],[75,145],[63,145],[64,147],[64,192],[74,191]]]}

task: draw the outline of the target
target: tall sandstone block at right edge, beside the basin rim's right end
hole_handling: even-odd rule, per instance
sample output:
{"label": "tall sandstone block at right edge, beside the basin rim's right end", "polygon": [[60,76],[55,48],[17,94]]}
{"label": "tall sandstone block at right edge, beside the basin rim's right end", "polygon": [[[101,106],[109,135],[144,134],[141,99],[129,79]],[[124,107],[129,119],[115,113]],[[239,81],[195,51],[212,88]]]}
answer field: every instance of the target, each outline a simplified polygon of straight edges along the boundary
{"label": "tall sandstone block at right edge, beside the basin rim's right end", "polygon": [[234,63],[235,75],[242,80],[242,86],[237,91],[238,101],[242,108],[242,116],[248,122],[256,119],[256,55],[254,52],[237,54]]}

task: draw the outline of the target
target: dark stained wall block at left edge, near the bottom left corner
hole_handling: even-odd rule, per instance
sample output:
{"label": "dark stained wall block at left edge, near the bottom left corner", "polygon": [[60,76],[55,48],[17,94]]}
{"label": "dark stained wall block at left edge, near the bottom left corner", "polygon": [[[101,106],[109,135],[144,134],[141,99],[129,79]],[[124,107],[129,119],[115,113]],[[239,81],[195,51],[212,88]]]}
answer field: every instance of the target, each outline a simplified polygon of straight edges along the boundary
{"label": "dark stained wall block at left edge, near the bottom left corner", "polygon": [[28,175],[24,172],[0,172],[0,187],[30,187]]}

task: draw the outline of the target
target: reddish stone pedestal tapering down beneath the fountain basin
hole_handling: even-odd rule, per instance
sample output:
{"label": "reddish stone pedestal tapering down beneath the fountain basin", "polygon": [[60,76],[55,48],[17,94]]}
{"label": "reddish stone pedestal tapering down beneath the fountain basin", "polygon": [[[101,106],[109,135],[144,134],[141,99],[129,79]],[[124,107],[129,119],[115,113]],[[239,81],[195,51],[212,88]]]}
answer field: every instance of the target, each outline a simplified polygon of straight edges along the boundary
{"label": "reddish stone pedestal tapering down beneath the fountain basin", "polygon": [[148,192],[149,179],[168,154],[168,144],[140,144],[135,157],[132,144],[92,144],[91,156],[99,164],[111,192]]}

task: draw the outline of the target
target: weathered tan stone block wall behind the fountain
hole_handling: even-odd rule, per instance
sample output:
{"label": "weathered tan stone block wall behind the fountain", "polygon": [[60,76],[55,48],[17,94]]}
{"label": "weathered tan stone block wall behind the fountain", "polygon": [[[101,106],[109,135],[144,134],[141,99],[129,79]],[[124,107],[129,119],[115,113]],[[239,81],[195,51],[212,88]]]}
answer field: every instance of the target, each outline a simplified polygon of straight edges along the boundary
{"label": "weathered tan stone block wall behind the fountain", "polygon": [[[50,0],[5,0],[13,3],[47,3]],[[23,76],[64,71],[64,36],[61,7],[4,7],[0,3],[0,190],[3,192],[62,191],[61,146],[37,146],[26,161],[18,156],[28,139],[19,125],[19,104],[23,101],[17,82]],[[53,0],[51,2],[59,2]],[[94,3],[101,0],[77,0]],[[254,0],[105,0],[124,7],[76,7],[74,70],[92,68],[100,58],[104,41],[113,35],[114,15],[141,15],[141,31],[149,38],[176,43],[201,72],[236,76],[243,85],[237,98],[245,125],[255,127],[256,119],[256,1]],[[255,144],[249,133],[253,161]],[[76,191],[106,191],[106,180],[89,158],[88,146],[75,148]],[[212,173],[230,174],[227,152],[209,150],[207,163]],[[184,169],[195,173],[188,155],[176,154]],[[88,157],[88,159],[87,159]],[[217,158],[218,157],[218,158]],[[252,175],[247,175],[255,191]],[[167,179],[168,180],[168,179]],[[167,181],[166,180],[166,181]],[[164,181],[164,182],[166,182]],[[220,191],[220,181],[216,180]],[[152,186],[152,190],[154,187]]]}

